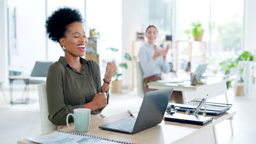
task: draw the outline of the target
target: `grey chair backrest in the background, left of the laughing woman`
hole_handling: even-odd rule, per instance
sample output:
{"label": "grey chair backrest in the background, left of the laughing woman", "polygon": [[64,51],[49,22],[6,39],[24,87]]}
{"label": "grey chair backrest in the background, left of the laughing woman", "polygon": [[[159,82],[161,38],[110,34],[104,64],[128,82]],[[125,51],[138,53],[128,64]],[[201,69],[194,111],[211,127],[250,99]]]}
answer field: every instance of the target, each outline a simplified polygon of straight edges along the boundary
{"label": "grey chair backrest in the background, left of the laughing woman", "polygon": [[47,72],[48,72],[48,67],[51,64],[53,64],[53,62],[39,62],[39,61],[36,61],[30,76],[32,76],[32,77],[46,77]]}

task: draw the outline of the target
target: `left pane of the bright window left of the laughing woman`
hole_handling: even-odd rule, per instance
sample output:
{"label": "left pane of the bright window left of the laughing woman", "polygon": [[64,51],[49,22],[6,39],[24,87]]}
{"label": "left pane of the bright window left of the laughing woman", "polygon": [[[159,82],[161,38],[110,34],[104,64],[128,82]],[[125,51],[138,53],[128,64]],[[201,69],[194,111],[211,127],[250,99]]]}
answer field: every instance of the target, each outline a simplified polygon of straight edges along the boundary
{"label": "left pane of the bright window left of the laughing woman", "polygon": [[[10,70],[30,74],[35,61],[45,61],[45,1],[8,0]],[[33,6],[32,6],[33,5]]]}

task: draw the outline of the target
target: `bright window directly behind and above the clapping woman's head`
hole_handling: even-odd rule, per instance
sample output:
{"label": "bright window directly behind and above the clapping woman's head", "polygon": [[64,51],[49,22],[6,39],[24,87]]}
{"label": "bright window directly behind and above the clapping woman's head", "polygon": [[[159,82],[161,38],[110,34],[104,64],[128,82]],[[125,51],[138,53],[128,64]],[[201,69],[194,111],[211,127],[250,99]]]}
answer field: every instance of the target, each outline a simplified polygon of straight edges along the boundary
{"label": "bright window directly behind and above the clapping woman's head", "polygon": [[[171,0],[149,0],[144,1],[141,7],[143,10],[143,21],[141,23],[141,31],[145,32],[149,25],[154,25],[158,28],[159,34],[156,44],[166,47],[166,35],[173,35],[173,1]],[[147,39],[146,39],[147,41]],[[172,50],[167,53],[167,61],[172,61]]]}

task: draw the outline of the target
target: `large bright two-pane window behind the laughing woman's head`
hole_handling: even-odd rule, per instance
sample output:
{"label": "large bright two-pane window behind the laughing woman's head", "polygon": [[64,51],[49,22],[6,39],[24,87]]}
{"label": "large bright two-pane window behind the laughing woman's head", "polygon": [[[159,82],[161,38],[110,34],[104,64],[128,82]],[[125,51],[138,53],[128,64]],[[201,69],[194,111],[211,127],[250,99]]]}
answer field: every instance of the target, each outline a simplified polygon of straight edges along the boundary
{"label": "large bright two-pane window behind the laughing woman's head", "polygon": [[[47,5],[45,5],[46,2]],[[64,6],[79,9],[84,17],[84,0],[75,2],[8,0],[10,70],[30,74],[36,61],[57,61],[60,56],[64,55],[60,45],[46,38],[45,35],[46,17],[57,8]]]}

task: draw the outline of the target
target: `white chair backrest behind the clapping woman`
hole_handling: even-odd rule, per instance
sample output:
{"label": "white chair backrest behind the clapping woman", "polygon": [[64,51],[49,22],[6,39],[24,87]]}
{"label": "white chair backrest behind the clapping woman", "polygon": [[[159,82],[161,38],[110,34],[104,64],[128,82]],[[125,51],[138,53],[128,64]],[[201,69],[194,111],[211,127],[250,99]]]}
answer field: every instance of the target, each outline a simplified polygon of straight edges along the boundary
{"label": "white chair backrest behind the clapping woman", "polygon": [[143,71],[141,68],[141,64],[136,62],[136,73],[137,73],[137,91],[139,97],[144,97],[144,88],[143,88]]}

